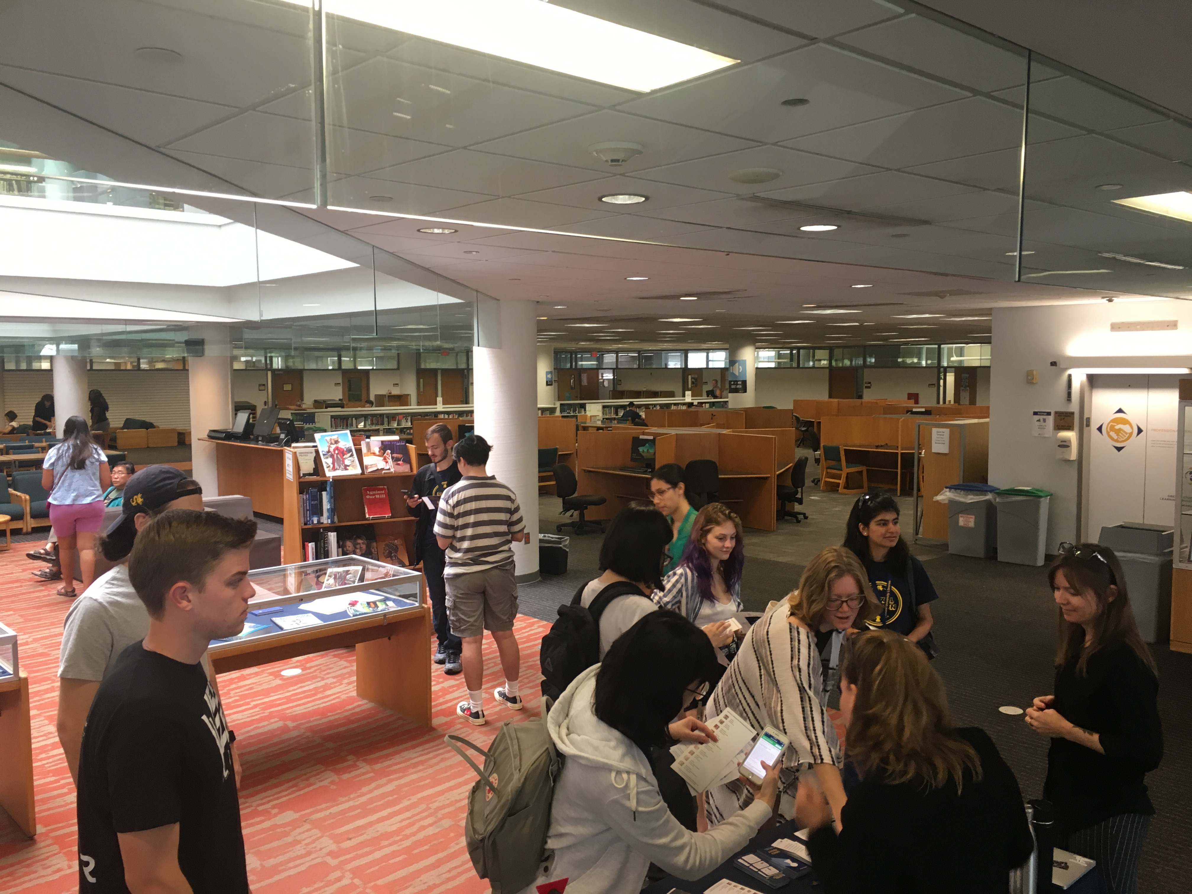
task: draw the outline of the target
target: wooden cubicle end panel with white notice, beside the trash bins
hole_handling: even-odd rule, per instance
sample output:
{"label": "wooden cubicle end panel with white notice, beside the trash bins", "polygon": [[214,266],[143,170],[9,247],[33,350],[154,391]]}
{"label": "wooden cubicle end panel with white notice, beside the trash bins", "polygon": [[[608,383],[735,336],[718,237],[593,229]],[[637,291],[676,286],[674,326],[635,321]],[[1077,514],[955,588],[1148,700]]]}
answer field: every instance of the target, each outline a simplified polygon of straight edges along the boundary
{"label": "wooden cubicle end panel with white notice, beside the trash bins", "polygon": [[[932,449],[932,429],[946,428],[948,452]],[[919,490],[923,517],[918,536],[948,540],[948,504],[936,495],[949,484],[989,479],[989,420],[919,420],[915,426],[919,451]]]}

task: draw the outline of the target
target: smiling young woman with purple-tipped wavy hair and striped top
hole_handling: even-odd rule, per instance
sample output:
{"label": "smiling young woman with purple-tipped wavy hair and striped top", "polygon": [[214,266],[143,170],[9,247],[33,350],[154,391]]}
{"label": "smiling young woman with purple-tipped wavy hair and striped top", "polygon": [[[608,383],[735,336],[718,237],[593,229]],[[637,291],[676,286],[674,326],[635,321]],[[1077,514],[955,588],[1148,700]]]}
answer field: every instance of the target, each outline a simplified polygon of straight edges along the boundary
{"label": "smiling young woman with purple-tipped wavy hair and striped top", "polygon": [[654,592],[654,603],[701,627],[731,659],[737,652],[731,619],[741,610],[744,566],[741,520],[724,503],[708,503],[695,516],[683,558]]}

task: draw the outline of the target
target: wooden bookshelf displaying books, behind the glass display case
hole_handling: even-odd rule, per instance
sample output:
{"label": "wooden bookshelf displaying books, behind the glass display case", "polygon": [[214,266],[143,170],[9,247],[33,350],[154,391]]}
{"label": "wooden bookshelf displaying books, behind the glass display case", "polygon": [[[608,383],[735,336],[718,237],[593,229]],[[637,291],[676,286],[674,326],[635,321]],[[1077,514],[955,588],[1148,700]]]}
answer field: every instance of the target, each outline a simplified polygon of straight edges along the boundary
{"label": "wooden bookshelf displaying books, behind the glass display case", "polygon": [[[292,447],[285,448],[293,454]],[[308,448],[309,449],[309,448]],[[414,472],[374,472],[372,474],[348,474],[328,478],[327,476],[298,474],[298,457],[291,457],[292,462],[284,467],[292,471],[293,478],[284,477],[283,480],[283,533],[281,533],[281,560],[286,565],[306,561],[303,553],[303,534],[311,530],[340,530],[349,532],[365,524],[373,526],[377,538],[392,536],[405,544],[405,554],[410,561],[414,560],[414,526],[417,519],[410,515],[405,505],[403,490],[409,490],[414,482]],[[356,460],[364,466],[364,458],[360,457],[360,447],[356,447]],[[319,462],[318,459],[315,460]],[[384,486],[389,490],[389,507],[393,515],[389,519],[366,519],[365,501],[361,493],[364,488]],[[324,490],[334,488],[335,493],[335,517],[334,524],[303,524],[302,499],[303,495],[311,488]],[[380,550],[378,548],[378,558]],[[384,559],[380,559],[384,561]]]}

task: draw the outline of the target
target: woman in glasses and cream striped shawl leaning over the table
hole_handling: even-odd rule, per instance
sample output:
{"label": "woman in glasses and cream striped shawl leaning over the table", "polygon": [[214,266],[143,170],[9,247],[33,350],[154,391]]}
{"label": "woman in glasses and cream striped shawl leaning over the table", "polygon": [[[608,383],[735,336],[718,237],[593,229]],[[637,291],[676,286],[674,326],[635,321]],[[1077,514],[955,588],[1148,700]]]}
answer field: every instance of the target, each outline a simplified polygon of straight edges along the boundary
{"label": "woman in glasses and cream striped shawl leaning over the table", "polygon": [[[839,657],[846,633],[876,610],[857,557],[844,547],[830,546],[807,564],[799,589],[750,627],[708,700],[709,718],[732,708],[755,730],[774,726],[787,733],[790,744],[782,752],[783,794],[794,799],[799,774],[811,766],[838,825],[845,800],[840,743],[827,715],[819,644],[834,639]],[[722,822],[752,802],[752,790],[739,781],[713,787],[704,797],[708,822]],[[793,801],[784,802],[783,815],[793,815]]]}

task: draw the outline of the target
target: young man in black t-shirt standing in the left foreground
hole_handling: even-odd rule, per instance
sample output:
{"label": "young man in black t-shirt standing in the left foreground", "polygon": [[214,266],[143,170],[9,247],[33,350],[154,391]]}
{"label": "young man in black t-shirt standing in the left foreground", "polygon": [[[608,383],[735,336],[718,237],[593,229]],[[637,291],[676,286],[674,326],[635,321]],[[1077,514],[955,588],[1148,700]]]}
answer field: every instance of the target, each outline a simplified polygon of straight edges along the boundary
{"label": "young man in black t-shirt standing in the left foreground", "polygon": [[149,634],[99,685],[79,762],[79,889],[247,894],[231,743],[199,663],[244,626],[252,519],[170,509],[137,534],[129,578]]}

